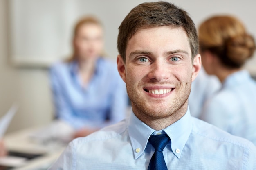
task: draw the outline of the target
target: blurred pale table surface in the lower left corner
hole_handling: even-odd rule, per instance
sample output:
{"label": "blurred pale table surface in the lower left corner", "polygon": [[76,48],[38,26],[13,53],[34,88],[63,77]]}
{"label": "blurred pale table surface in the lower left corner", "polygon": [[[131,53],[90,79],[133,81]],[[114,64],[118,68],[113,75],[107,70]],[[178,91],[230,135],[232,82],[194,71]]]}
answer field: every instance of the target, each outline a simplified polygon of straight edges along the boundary
{"label": "blurred pale table surface in the lower left corner", "polygon": [[20,130],[4,136],[4,144],[8,150],[41,153],[43,156],[26,161],[26,165],[12,170],[46,170],[63,152],[67,143],[56,141],[42,142],[31,138],[31,134],[40,131],[42,127]]}

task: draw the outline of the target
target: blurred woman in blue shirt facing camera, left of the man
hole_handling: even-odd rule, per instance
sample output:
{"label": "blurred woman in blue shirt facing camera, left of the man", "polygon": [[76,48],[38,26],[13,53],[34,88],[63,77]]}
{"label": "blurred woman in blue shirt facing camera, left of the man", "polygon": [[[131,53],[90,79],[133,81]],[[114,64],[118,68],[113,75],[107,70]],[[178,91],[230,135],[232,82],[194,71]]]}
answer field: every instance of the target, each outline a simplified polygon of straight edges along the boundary
{"label": "blurred woman in blue shirt facing camera, left of the man", "polygon": [[73,55],[50,70],[56,117],[74,137],[86,136],[126,117],[128,96],[115,61],[103,58],[103,27],[95,17],[77,22]]}

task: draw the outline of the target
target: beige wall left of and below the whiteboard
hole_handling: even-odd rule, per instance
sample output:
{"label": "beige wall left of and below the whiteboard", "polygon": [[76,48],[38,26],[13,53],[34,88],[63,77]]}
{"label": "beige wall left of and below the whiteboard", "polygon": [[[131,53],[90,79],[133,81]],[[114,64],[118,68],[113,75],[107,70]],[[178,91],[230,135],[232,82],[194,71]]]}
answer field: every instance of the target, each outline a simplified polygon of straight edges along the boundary
{"label": "beige wall left of and below the whiteboard", "polygon": [[52,120],[47,70],[16,68],[8,56],[7,0],[0,0],[0,116],[18,103],[7,132],[42,125]]}

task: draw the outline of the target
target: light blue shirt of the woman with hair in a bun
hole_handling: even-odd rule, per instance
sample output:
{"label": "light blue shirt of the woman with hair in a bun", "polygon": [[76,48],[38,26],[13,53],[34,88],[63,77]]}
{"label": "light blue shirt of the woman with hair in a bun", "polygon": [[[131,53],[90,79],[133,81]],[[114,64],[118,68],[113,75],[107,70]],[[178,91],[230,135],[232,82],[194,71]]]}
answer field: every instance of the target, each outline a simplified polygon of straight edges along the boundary
{"label": "light blue shirt of the woman with hair in a bun", "polygon": [[228,76],[220,91],[206,102],[201,119],[256,145],[256,81],[249,72]]}

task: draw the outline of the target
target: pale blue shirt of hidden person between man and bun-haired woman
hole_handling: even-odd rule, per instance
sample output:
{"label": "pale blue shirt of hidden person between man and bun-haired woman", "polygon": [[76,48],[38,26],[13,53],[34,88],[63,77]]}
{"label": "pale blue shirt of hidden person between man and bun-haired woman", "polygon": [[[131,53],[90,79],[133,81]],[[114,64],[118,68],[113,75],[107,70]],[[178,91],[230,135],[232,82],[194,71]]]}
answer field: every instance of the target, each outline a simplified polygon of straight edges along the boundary
{"label": "pale blue shirt of hidden person between man and bun-haired woman", "polygon": [[197,78],[191,84],[189,95],[191,116],[200,118],[205,101],[217,92],[220,87],[219,79],[216,76],[208,75],[202,67]]}

